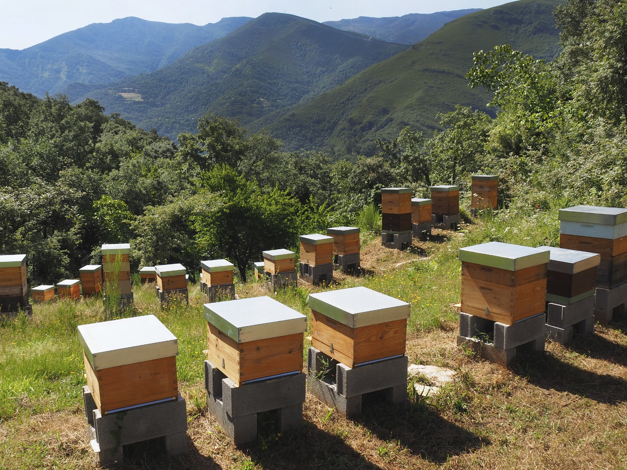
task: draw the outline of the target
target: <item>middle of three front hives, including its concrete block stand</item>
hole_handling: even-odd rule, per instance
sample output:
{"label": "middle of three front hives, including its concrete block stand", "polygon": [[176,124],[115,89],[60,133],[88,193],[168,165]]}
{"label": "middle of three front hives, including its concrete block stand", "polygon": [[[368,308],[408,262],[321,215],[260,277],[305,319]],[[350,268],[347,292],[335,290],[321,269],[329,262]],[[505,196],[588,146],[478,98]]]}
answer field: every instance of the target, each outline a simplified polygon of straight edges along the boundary
{"label": "middle of three front hives, including its concrete block stand", "polygon": [[205,384],[212,414],[236,444],[256,438],[257,413],[277,410],[278,431],[302,424],[307,317],[270,297],[204,305]]}

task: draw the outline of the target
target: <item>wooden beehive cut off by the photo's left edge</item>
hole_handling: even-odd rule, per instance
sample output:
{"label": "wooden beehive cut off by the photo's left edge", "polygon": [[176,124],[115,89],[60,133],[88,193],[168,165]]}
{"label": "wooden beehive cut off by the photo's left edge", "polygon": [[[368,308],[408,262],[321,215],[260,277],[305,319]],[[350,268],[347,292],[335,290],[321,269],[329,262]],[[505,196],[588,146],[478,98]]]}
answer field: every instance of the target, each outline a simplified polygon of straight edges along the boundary
{"label": "wooden beehive cut off by the photo's left edge", "polygon": [[0,256],[0,311],[16,311],[28,305],[26,255]]}

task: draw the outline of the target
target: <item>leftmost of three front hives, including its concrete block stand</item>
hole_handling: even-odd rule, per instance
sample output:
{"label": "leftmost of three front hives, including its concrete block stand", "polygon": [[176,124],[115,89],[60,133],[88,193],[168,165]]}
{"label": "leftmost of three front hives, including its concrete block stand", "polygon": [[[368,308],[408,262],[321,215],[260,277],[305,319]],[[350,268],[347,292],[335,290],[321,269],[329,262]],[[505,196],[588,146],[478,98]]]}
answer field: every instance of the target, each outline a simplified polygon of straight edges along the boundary
{"label": "leftmost of three front hives, including its concrete block stand", "polygon": [[178,391],[177,339],[154,315],[78,326],[87,430],[101,464],[124,459],[132,442],[164,437],[186,451],[185,400]]}

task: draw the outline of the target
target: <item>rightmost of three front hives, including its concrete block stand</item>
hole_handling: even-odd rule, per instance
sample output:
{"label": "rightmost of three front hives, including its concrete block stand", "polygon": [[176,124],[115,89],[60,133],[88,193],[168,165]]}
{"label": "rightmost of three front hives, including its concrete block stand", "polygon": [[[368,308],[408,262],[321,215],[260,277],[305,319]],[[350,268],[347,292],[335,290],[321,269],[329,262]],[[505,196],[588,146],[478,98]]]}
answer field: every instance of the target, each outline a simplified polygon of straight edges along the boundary
{"label": "rightmost of three front hives, including its concrete block stand", "polygon": [[[311,294],[309,307],[307,373],[320,400],[350,417],[361,413],[369,392],[387,390],[392,402],[406,399],[408,303],[356,287]],[[324,363],[333,367],[325,370]]]}

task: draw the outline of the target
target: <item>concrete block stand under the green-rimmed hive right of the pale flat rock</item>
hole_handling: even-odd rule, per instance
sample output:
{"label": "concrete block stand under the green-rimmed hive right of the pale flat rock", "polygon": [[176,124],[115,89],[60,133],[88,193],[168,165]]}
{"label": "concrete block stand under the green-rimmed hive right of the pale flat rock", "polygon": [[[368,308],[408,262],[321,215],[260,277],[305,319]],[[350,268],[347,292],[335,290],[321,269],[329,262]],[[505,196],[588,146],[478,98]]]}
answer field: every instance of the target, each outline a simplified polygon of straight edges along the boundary
{"label": "concrete block stand under the green-rimmed hive right of the pale flat rock", "polygon": [[519,320],[514,325],[505,325],[462,312],[457,345],[472,348],[483,359],[507,366],[519,348],[544,352],[544,322],[544,313]]}

